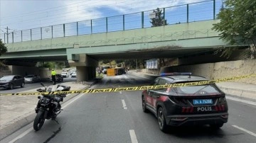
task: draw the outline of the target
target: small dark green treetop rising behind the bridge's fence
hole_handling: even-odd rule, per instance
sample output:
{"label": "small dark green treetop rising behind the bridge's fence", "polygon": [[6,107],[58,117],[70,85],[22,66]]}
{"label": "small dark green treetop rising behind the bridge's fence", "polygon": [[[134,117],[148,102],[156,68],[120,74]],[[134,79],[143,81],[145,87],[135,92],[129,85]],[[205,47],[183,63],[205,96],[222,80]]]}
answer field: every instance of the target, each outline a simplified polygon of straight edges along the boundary
{"label": "small dark green treetop rising behind the bridge's fence", "polygon": [[162,11],[159,8],[156,8],[156,10],[154,10],[153,12],[156,13],[156,17],[151,18],[151,27],[167,25],[167,21],[164,19],[164,13],[162,13]]}

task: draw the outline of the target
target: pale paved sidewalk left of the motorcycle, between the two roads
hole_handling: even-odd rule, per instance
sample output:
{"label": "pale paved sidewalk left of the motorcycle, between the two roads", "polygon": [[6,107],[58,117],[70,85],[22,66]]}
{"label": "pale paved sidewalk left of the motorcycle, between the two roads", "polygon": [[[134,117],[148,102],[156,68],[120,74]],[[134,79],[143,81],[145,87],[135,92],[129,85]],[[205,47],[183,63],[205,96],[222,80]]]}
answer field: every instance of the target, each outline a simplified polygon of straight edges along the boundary
{"label": "pale paved sidewalk left of the motorcycle, between the two roads", "polygon": [[[70,90],[80,90],[89,88],[95,81],[63,84],[70,86]],[[36,89],[23,92],[37,92]],[[76,95],[68,94],[63,103]],[[37,102],[37,96],[0,96],[0,140],[34,120]]]}

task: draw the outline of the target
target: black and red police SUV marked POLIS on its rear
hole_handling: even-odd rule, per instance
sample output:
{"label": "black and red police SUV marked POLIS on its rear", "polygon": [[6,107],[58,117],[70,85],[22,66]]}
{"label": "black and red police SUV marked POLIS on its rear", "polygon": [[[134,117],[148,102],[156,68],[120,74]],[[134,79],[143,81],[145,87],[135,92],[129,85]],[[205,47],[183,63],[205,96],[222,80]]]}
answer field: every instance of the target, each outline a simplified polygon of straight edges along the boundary
{"label": "black and red police SUV marked POLIS on its rear", "polygon": [[[169,76],[168,76],[169,75]],[[163,74],[152,86],[208,81],[203,76]],[[215,84],[159,88],[142,92],[142,109],[156,115],[163,132],[171,126],[210,125],[218,129],[228,122],[225,93]]]}

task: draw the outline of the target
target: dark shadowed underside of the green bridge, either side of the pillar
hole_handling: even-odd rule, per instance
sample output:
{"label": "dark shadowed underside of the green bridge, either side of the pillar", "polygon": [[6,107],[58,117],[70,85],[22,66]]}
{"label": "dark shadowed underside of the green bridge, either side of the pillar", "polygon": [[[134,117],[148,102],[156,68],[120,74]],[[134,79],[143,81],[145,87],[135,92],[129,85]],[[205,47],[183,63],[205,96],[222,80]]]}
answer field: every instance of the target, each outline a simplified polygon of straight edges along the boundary
{"label": "dark shadowed underside of the green bridge, either side of the pillar", "polygon": [[[198,55],[204,52],[213,51],[215,47],[200,47],[200,48],[176,48],[176,49],[161,49],[161,50],[135,50],[135,51],[119,51],[108,53],[87,54],[96,60],[101,59],[151,59],[151,58],[171,58],[171,57],[186,57],[189,55]],[[85,53],[84,53],[85,54]],[[45,50],[45,51],[28,51],[23,52],[22,56],[19,52],[6,53],[1,59],[6,59],[11,64],[14,62],[47,62],[47,61],[65,61],[67,55],[65,50]]]}

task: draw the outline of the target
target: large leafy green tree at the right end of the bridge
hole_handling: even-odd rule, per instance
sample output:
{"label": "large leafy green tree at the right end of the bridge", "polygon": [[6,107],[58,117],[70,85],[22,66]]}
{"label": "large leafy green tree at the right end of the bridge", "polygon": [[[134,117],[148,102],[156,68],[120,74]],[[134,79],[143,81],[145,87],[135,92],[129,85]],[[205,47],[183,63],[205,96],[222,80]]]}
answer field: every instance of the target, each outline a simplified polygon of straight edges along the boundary
{"label": "large leafy green tree at the right end of the bridge", "polygon": [[[220,32],[220,38],[230,45],[250,45],[243,53],[247,58],[256,58],[256,1],[227,0],[225,8],[220,9],[217,18],[220,23],[213,24],[213,30]],[[233,47],[220,48],[222,56],[230,57]]]}

